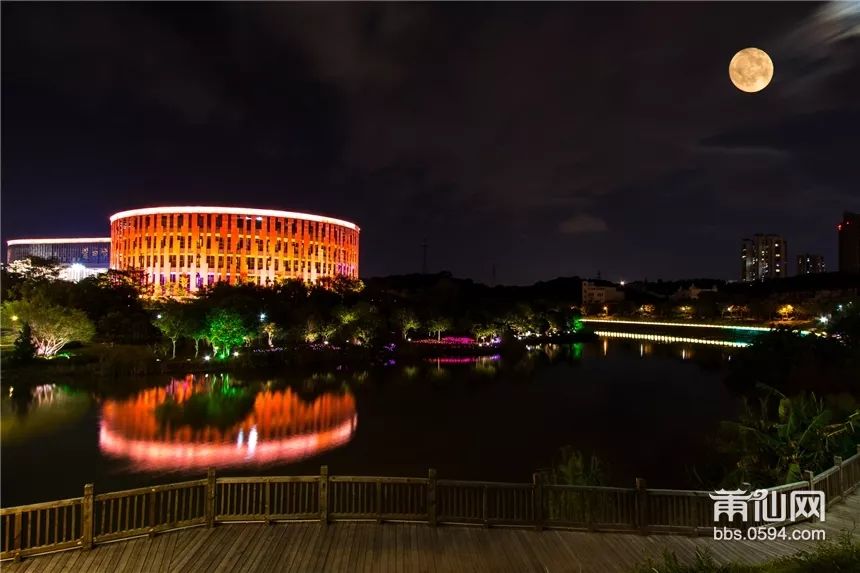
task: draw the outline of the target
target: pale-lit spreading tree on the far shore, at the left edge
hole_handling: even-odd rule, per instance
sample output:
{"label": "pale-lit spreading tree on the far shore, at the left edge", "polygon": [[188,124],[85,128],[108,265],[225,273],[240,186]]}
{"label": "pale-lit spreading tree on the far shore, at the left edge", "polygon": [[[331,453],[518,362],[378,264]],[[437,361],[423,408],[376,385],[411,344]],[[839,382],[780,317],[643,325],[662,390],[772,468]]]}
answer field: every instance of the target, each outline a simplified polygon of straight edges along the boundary
{"label": "pale-lit spreading tree on the far shore, at the left edge", "polygon": [[26,323],[39,356],[54,356],[72,341],[89,342],[95,327],[87,315],[41,299],[21,299],[3,304],[4,319]]}

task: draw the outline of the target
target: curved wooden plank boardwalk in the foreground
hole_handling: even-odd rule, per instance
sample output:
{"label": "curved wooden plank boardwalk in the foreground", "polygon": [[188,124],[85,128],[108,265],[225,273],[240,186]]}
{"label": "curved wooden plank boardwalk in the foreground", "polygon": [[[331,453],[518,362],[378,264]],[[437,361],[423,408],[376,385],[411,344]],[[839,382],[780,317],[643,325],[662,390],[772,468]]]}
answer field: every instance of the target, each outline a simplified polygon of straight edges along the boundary
{"label": "curved wooden plank boardwalk in the foreground", "polygon": [[[789,532],[823,529],[835,540],[860,525],[860,493],[828,509],[827,519]],[[857,535],[857,533],[854,533]],[[709,537],[563,530],[430,527],[426,524],[319,522],[194,527],[7,561],[8,573],[105,572],[624,572],[664,549],[682,560],[708,546],[719,562],[761,562],[810,549],[811,541],[723,541]]]}

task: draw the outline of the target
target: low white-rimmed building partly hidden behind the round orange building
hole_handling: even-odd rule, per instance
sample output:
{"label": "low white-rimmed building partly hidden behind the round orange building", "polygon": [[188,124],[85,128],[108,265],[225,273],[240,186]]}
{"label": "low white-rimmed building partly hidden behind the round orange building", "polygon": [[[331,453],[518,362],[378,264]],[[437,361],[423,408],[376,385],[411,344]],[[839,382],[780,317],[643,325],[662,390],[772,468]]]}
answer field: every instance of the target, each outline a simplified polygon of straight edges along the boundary
{"label": "low white-rimmed building partly hidden behind the round orange building", "polygon": [[6,247],[7,263],[30,257],[50,260],[59,264],[63,280],[78,281],[110,266],[110,237],[12,239]]}

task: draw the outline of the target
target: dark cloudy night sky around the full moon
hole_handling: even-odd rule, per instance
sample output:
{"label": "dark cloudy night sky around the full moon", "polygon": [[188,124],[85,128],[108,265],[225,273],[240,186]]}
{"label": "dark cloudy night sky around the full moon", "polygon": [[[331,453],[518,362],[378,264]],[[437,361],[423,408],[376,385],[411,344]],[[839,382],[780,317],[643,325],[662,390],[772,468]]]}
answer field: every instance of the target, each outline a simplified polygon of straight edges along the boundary
{"label": "dark cloudy night sky around the full moon", "polygon": [[[860,4],[8,4],[2,239],[215,204],[362,227],[361,274],[836,267],[860,210]],[[728,63],[756,46],[774,80]]]}

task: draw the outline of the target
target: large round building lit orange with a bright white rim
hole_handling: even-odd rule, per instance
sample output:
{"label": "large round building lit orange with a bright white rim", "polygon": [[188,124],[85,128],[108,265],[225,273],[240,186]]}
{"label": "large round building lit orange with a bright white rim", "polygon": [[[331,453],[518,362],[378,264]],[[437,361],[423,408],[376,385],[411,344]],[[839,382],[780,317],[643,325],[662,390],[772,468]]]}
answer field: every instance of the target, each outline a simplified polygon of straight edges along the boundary
{"label": "large round building lit orange with a bright white rim", "polygon": [[156,291],[358,278],[360,229],[349,221],[242,207],[132,209],[110,221],[110,268],[139,271]]}

